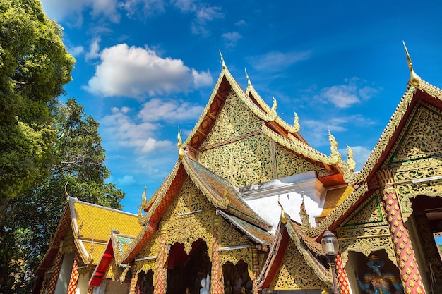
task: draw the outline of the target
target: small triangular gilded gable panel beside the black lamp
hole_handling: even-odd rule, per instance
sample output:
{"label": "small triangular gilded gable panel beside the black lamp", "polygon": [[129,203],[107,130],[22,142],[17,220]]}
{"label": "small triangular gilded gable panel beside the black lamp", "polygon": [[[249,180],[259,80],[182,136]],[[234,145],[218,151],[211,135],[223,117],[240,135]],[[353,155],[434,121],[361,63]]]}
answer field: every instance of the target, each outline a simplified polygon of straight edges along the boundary
{"label": "small triangular gilded gable panel beside the black lamp", "polygon": [[284,259],[270,289],[272,290],[305,290],[328,288],[314,273],[302,257],[296,245],[289,240]]}

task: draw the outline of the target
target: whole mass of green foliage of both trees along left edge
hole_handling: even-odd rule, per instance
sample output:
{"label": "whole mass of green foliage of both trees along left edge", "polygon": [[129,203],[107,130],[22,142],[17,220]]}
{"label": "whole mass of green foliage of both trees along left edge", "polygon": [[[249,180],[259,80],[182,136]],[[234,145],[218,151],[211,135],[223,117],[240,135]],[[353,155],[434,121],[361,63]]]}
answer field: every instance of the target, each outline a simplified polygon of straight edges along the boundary
{"label": "whole mass of green foliage of both trees along left edge", "polygon": [[0,293],[31,293],[66,194],[121,209],[98,123],[58,102],[75,60],[40,0],[0,0]]}

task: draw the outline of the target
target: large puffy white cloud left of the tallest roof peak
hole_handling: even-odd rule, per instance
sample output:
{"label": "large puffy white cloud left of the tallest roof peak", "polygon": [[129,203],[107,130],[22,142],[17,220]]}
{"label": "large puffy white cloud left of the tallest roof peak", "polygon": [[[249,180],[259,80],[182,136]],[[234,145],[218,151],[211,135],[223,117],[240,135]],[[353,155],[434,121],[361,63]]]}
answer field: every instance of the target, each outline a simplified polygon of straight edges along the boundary
{"label": "large puffy white cloud left of the tallest roof peak", "polygon": [[162,58],[149,48],[117,44],[104,49],[101,63],[85,89],[104,97],[143,99],[146,95],[187,92],[213,83],[209,71],[184,66],[181,59]]}

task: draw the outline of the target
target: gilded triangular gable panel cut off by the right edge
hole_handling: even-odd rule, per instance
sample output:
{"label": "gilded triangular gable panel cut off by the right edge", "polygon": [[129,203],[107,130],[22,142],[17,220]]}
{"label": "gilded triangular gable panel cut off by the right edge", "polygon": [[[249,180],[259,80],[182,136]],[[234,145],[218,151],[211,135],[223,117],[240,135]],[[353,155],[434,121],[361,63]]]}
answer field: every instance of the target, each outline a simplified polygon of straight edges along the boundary
{"label": "gilded triangular gable panel cut off by the right edge", "polygon": [[392,164],[441,154],[442,118],[438,109],[421,104],[405,128]]}

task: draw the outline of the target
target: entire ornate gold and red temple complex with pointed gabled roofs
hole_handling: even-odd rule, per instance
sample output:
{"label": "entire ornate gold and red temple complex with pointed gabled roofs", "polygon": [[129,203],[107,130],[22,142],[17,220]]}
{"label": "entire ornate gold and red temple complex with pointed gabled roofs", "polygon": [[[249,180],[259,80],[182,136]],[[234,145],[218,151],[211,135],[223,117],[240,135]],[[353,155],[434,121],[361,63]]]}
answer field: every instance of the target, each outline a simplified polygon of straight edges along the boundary
{"label": "entire ornate gold and red temple complex with pointed gabled roofs", "polygon": [[318,152],[221,56],[160,188],[138,216],[68,197],[35,293],[441,293],[442,91],[405,51],[407,90],[357,172],[350,147],[329,132]]}

